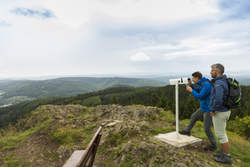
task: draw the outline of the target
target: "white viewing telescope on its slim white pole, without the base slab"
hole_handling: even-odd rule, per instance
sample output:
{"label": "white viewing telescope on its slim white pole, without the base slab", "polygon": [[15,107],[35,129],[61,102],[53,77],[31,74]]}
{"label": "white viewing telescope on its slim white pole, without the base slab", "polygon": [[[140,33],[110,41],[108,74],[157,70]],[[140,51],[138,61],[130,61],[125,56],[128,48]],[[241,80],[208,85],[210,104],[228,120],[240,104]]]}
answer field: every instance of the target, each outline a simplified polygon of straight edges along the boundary
{"label": "white viewing telescope on its slim white pole, without the base slab", "polygon": [[177,79],[170,79],[170,85],[175,85],[175,103],[176,103],[176,138],[179,138],[179,99],[178,99],[178,85],[179,84],[188,84],[188,81],[191,80],[190,78],[177,78]]}

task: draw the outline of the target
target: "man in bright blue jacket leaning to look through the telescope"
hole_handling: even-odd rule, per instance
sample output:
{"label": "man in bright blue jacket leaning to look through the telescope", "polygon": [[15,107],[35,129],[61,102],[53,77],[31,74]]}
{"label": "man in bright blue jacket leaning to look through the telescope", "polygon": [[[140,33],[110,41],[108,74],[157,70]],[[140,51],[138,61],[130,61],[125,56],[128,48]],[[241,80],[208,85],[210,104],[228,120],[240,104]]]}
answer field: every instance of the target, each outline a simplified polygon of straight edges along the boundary
{"label": "man in bright blue jacket leaning to look through the telescope", "polygon": [[180,131],[179,133],[182,135],[189,135],[190,131],[194,127],[196,121],[200,118],[203,118],[203,128],[205,133],[210,141],[210,145],[205,147],[205,150],[214,151],[217,149],[217,142],[215,140],[214,134],[211,130],[212,126],[212,117],[210,115],[210,107],[209,107],[209,100],[210,100],[210,93],[212,85],[209,82],[209,79],[202,77],[202,74],[197,71],[192,74],[192,81],[194,84],[199,85],[199,87],[194,88],[191,80],[188,80],[189,85],[186,86],[186,89],[191,92],[191,94],[200,100],[200,108],[192,114],[191,119],[187,127]]}

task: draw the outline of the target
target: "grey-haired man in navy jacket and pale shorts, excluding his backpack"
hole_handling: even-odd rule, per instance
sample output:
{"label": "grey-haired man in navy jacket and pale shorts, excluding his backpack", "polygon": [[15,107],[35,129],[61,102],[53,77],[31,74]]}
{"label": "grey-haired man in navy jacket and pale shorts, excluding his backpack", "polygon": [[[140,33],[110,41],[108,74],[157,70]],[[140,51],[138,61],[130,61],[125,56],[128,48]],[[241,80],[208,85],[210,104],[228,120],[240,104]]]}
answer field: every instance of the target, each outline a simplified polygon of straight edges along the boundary
{"label": "grey-haired man in navy jacket and pale shorts, excluding his backpack", "polygon": [[211,84],[213,85],[210,97],[210,114],[213,117],[214,131],[218,138],[221,151],[213,154],[214,160],[219,163],[232,164],[232,159],[229,153],[229,141],[226,134],[226,125],[229,120],[231,109],[223,105],[228,99],[229,84],[227,76],[223,75],[224,66],[221,64],[214,64],[211,66]]}

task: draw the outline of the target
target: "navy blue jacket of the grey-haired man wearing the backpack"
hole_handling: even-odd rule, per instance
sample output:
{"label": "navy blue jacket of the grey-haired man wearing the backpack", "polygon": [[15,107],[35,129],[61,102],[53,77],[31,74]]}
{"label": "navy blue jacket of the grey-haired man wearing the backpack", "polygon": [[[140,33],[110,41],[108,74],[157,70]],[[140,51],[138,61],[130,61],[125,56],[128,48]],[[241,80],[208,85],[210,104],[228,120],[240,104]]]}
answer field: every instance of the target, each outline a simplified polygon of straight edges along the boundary
{"label": "navy blue jacket of the grey-haired man wearing the backpack", "polygon": [[226,75],[219,76],[217,78],[214,78],[211,80],[211,83],[214,84],[215,81],[217,81],[212,88],[211,91],[211,98],[210,98],[210,110],[212,112],[215,111],[228,111],[227,107],[223,106],[222,103],[224,100],[227,100],[227,95],[229,93],[228,89],[228,83],[225,80],[222,80],[221,78],[226,78]]}

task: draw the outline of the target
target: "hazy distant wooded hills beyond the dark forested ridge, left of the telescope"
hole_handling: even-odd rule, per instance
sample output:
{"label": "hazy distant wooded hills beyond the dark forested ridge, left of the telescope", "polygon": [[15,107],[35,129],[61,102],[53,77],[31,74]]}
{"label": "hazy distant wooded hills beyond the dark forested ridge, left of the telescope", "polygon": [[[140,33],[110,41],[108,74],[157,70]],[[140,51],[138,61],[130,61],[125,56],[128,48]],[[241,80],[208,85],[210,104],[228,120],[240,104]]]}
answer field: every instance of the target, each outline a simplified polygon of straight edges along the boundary
{"label": "hazy distant wooded hills beyond the dark forested ridge, left of the telescope", "polygon": [[[151,79],[136,78],[93,78],[93,77],[69,77],[44,81],[0,81],[0,105],[13,101],[22,101],[20,97],[26,97],[27,101],[52,96],[75,96],[88,92],[102,90],[108,87],[123,85],[128,87],[164,86],[165,82]],[[10,98],[7,102],[6,99]],[[19,99],[17,99],[19,98]],[[4,101],[5,100],[5,101]],[[23,100],[24,101],[24,100]]]}

